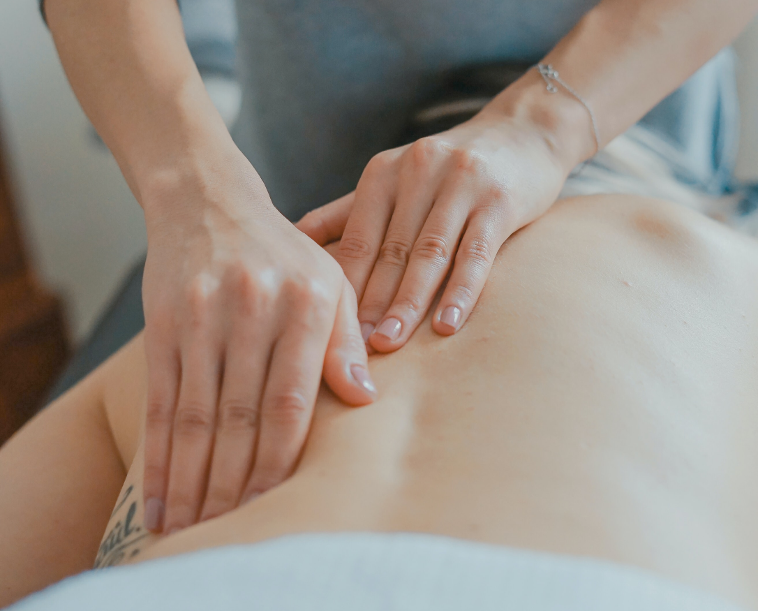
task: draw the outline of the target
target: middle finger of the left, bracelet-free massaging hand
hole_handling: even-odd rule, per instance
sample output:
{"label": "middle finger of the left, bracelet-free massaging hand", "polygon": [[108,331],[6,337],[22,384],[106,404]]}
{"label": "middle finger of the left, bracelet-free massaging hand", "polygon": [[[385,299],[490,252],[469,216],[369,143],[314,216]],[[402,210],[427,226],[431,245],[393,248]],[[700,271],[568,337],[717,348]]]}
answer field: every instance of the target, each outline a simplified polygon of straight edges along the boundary
{"label": "middle finger of the left, bracelet-free massaging hand", "polygon": [[200,520],[215,518],[234,509],[252,467],[260,424],[260,406],[268,374],[271,337],[240,320],[230,338],[225,359],[221,397],[218,401],[211,472]]}

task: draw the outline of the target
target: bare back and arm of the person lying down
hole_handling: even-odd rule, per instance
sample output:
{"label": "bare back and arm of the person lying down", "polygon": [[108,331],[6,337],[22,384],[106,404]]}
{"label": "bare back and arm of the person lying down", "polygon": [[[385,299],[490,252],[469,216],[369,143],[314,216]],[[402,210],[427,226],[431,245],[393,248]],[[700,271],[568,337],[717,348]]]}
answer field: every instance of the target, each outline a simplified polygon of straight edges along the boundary
{"label": "bare back and arm of the person lying down", "polygon": [[459,334],[424,324],[371,357],[374,405],[321,390],[291,478],[168,535],[145,529],[137,337],[0,449],[0,606],[92,566],[410,531],[758,609],[756,279],[754,240],[669,202],[559,202],[500,249]]}

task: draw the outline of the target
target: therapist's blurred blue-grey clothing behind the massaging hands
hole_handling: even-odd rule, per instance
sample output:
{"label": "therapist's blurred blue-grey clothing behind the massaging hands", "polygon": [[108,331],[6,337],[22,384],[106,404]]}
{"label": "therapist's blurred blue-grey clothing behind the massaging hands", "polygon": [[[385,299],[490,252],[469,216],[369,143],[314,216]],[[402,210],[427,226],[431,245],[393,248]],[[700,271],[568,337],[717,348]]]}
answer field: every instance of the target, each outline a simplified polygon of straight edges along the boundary
{"label": "therapist's blurred blue-grey clothing behind the massaging hands", "polygon": [[[355,188],[453,68],[537,61],[596,0],[237,0],[234,136],[289,218]],[[722,52],[644,118],[709,192],[731,177],[734,58]]]}

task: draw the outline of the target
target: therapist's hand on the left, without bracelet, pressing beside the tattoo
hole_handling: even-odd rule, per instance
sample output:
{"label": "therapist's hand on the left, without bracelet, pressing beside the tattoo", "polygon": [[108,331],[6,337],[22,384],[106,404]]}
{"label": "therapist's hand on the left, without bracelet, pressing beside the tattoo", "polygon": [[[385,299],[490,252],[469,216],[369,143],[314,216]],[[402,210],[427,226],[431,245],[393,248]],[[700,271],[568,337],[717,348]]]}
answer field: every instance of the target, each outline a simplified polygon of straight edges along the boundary
{"label": "therapist's hand on the left, without bracelet, pressing beside the tattoo", "polygon": [[241,154],[143,199],[145,522],[170,533],[290,475],[322,373],[349,405],[376,390],[340,265],[271,205]]}

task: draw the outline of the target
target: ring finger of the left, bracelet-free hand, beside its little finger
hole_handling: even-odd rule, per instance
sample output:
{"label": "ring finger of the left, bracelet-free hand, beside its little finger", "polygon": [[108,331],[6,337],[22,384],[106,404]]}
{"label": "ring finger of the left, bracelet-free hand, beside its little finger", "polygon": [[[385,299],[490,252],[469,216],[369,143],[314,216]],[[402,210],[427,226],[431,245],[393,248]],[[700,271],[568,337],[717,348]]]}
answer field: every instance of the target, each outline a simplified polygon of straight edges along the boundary
{"label": "ring finger of the left, bracelet-free hand, beside its little finger", "polygon": [[221,354],[204,338],[194,341],[182,359],[166,494],[164,530],[169,534],[197,521],[213,446],[220,362]]}

